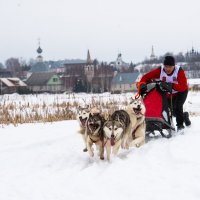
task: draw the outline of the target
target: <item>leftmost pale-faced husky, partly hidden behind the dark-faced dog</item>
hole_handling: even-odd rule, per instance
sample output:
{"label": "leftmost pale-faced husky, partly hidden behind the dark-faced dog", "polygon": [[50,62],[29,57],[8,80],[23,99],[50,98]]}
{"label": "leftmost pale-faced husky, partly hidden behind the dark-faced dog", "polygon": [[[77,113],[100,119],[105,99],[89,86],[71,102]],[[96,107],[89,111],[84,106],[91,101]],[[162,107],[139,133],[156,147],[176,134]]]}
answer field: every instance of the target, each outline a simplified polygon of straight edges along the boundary
{"label": "leftmost pale-faced husky, partly hidden behind the dark-faced dog", "polygon": [[77,118],[79,125],[80,125],[79,133],[83,137],[83,141],[84,141],[84,144],[85,144],[85,148],[83,149],[84,152],[87,151],[85,130],[86,130],[86,123],[87,123],[87,120],[89,118],[89,114],[90,114],[89,106],[84,107],[84,108],[80,107],[80,106],[78,107],[78,113],[77,113],[76,118]]}

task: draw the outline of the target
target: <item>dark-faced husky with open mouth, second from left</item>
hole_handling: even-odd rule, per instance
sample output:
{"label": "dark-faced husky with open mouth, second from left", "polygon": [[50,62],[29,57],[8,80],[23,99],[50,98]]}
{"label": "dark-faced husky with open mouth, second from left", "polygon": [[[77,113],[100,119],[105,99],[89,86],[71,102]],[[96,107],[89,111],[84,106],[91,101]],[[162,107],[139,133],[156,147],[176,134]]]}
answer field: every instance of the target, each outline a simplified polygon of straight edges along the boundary
{"label": "dark-faced husky with open mouth, second from left", "polygon": [[93,112],[93,109],[89,115],[86,126],[86,145],[88,153],[91,157],[94,156],[92,145],[95,144],[99,150],[100,159],[104,159],[104,146],[103,146],[103,124],[105,119],[98,112]]}

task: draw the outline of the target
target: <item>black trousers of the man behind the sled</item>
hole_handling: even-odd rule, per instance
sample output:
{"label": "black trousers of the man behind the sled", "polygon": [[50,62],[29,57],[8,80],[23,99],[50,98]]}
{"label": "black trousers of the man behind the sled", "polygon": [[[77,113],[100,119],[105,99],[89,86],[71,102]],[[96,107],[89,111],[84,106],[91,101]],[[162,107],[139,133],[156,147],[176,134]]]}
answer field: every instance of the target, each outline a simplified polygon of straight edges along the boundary
{"label": "black trousers of the man behind the sled", "polygon": [[[184,92],[178,92],[173,98],[172,98],[172,105],[173,105],[173,116],[176,117],[176,125],[181,126],[184,122],[183,117],[183,104],[185,103],[185,100],[188,95],[188,90]],[[169,104],[170,105],[170,104]]]}

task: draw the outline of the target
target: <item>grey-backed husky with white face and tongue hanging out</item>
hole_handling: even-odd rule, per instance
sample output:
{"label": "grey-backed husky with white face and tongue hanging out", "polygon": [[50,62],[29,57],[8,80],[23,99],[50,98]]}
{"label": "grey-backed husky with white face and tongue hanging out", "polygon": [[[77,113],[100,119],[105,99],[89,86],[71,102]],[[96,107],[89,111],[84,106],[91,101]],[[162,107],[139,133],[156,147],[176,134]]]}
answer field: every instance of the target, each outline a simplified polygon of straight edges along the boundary
{"label": "grey-backed husky with white face and tongue hanging out", "polygon": [[112,153],[116,155],[121,146],[123,137],[130,129],[130,117],[124,110],[117,110],[111,115],[111,119],[103,126],[104,145],[106,148],[107,160],[110,160]]}

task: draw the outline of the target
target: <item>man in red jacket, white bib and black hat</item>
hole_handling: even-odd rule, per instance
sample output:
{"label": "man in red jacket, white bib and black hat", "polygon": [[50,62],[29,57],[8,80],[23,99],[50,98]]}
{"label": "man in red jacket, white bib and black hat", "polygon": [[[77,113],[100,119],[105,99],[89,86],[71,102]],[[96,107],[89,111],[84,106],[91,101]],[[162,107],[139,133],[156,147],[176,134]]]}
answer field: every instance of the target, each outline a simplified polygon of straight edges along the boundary
{"label": "man in red jacket, white bib and black hat", "polygon": [[[184,70],[175,65],[173,56],[166,56],[163,65],[145,74],[140,82],[147,84],[153,80],[164,81],[166,87],[172,87],[173,112],[176,116],[177,130],[184,129],[183,123],[190,126],[189,113],[183,112],[183,104],[188,94],[187,79]],[[141,92],[143,88],[141,87]]]}

